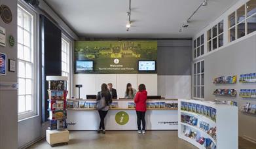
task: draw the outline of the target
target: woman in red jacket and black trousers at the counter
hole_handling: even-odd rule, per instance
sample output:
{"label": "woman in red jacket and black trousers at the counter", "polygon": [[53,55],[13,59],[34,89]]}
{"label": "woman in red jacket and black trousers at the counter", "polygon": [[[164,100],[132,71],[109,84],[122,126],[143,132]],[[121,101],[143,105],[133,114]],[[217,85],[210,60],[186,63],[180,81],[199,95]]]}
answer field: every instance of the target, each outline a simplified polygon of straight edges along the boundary
{"label": "woman in red jacket and black trousers at the counter", "polygon": [[[139,84],[139,91],[136,93],[134,103],[136,103],[136,114],[137,114],[137,133],[145,134],[145,113],[147,110],[147,91],[144,84]],[[141,122],[142,122],[142,131],[141,131]]]}

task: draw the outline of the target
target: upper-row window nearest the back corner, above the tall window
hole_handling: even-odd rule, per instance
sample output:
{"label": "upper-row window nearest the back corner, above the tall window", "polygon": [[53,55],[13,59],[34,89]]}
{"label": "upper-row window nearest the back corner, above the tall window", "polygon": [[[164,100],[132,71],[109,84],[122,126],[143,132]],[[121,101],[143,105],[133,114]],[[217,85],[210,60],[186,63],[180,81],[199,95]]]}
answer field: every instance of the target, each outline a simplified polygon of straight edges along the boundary
{"label": "upper-row window nearest the back corner, above the tall window", "polygon": [[204,55],[204,34],[198,37],[197,39],[194,39],[193,44],[193,58],[197,58],[199,56]]}

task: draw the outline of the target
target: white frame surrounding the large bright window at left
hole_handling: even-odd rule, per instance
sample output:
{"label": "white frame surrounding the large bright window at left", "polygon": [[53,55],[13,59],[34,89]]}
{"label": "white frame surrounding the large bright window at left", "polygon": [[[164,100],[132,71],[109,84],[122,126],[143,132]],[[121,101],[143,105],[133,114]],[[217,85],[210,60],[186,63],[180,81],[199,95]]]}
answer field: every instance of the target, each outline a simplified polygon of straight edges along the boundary
{"label": "white frame surrounding the large bright window at left", "polygon": [[[18,1],[18,8],[22,9],[24,12],[27,12],[28,14],[31,14],[33,21],[31,22],[31,48],[33,48],[32,50],[32,54],[31,57],[33,58],[33,66],[32,66],[32,84],[33,86],[31,86],[32,88],[32,110],[28,111],[28,112],[21,112],[18,113],[18,121],[20,120],[24,120],[33,116],[38,115],[38,86],[37,86],[37,14],[31,10],[30,8],[26,7],[26,5],[20,3],[20,1]],[[17,16],[18,18],[18,16]],[[18,28],[18,24],[17,24],[17,28]],[[19,59],[17,59],[17,63],[18,63]],[[17,107],[18,108],[18,107]]]}

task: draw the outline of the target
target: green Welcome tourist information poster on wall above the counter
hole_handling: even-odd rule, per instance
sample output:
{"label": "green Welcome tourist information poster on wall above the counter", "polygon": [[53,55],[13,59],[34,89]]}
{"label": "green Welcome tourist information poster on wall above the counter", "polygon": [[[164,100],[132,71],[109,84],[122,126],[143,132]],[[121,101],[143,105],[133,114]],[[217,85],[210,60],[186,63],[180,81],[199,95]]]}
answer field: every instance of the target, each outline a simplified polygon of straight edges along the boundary
{"label": "green Welcome tourist information poster on wall above the counter", "polygon": [[[75,73],[138,73],[139,60],[156,59],[157,41],[75,42]],[[90,61],[93,69],[88,71],[85,64]],[[156,70],[143,73],[156,73]]]}

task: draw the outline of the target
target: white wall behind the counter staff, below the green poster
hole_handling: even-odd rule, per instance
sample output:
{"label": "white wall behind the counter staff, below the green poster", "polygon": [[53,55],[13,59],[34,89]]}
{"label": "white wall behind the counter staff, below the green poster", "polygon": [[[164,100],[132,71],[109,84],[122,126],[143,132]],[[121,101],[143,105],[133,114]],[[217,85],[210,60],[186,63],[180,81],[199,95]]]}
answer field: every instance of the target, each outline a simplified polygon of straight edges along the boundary
{"label": "white wall behind the counter staff, below the green poster", "polygon": [[137,86],[143,83],[148,95],[157,95],[157,74],[75,74],[73,96],[78,98],[75,84],[82,84],[81,98],[86,99],[86,95],[95,95],[100,91],[101,84],[110,82],[113,88],[117,89],[118,97],[124,97],[127,83],[131,83],[136,90]]}

